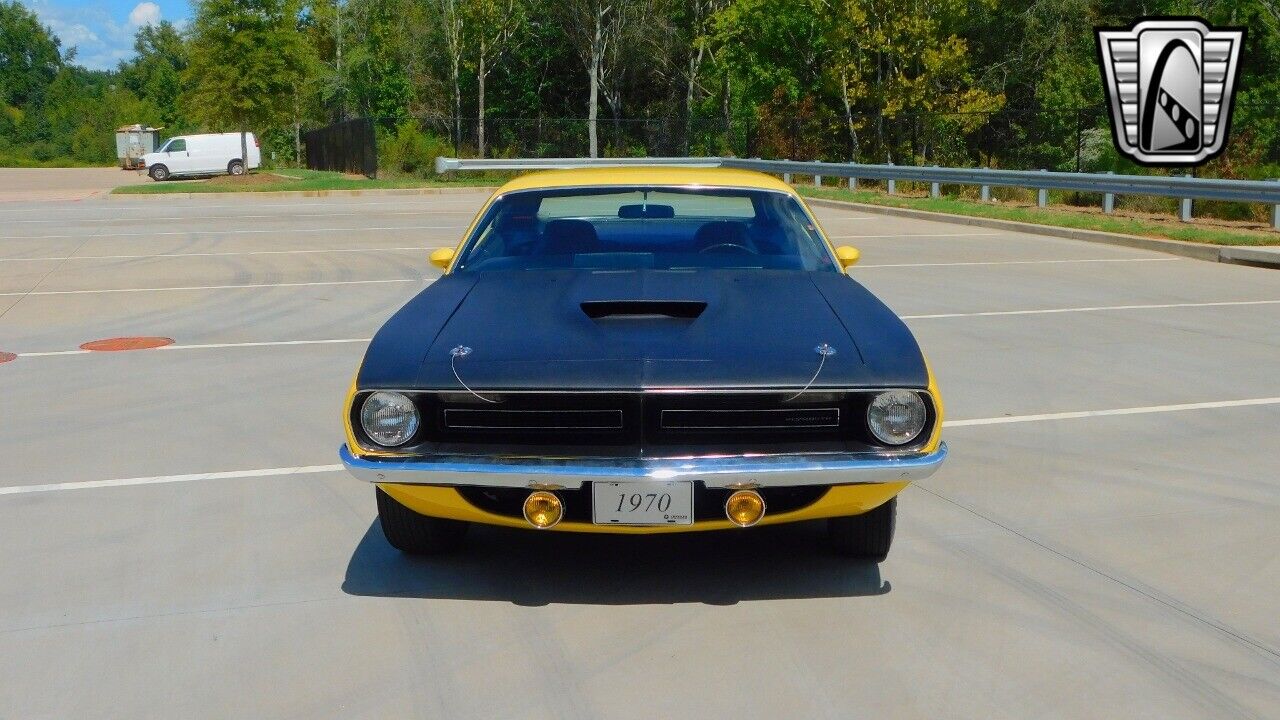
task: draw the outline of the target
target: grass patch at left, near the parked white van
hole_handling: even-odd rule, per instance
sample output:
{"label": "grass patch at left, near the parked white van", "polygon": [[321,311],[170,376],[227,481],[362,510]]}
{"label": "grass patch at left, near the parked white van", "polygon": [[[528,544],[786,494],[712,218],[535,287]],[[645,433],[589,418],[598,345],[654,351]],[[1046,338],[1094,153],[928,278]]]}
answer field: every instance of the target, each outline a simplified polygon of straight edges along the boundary
{"label": "grass patch at left, near the parked white van", "polygon": [[111,191],[114,195],[166,195],[173,192],[305,192],[317,190],[397,190],[412,187],[475,187],[494,184],[484,176],[424,179],[389,177],[369,179],[325,170],[255,170],[242,181],[219,176],[207,181],[165,181],[129,184]]}

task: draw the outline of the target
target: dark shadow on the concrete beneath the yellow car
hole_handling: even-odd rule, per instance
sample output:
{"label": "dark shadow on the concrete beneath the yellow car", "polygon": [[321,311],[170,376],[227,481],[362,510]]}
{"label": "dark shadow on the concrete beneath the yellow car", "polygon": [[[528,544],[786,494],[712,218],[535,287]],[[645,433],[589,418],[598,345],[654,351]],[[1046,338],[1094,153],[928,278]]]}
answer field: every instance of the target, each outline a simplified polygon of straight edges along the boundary
{"label": "dark shadow on the concrete beneath the yellow car", "polygon": [[461,551],[415,557],[389,546],[375,520],[351,556],[342,589],[522,606],[733,605],[890,592],[878,565],[833,555],[823,533],[820,523],[669,536],[476,525]]}

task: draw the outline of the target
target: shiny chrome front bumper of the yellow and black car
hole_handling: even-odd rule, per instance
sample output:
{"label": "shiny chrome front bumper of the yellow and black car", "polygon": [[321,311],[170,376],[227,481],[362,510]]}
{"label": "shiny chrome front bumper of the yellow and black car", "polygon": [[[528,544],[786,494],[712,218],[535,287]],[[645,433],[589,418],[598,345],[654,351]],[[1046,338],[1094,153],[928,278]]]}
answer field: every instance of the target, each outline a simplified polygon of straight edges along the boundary
{"label": "shiny chrome front bumper of the yellow and black car", "polygon": [[758,455],[681,459],[596,457],[356,457],[338,450],[342,464],[370,483],[577,489],[593,480],[701,480],[710,488],[847,486],[920,480],[947,457],[947,443],[914,455]]}

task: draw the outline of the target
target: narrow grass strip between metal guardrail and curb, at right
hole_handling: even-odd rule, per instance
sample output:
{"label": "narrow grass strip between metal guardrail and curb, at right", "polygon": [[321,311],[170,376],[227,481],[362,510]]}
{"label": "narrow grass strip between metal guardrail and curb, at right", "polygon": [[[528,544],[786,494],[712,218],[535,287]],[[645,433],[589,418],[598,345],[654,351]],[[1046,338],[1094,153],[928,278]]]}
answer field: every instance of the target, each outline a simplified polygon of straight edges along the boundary
{"label": "narrow grass strip between metal guardrail and curb, at right", "polygon": [[901,195],[887,195],[872,190],[850,191],[845,188],[797,186],[796,191],[805,197],[845,200],[849,202],[863,202],[867,205],[910,208],[915,210],[931,210],[934,213],[951,213],[954,215],[973,215],[978,218],[1034,223],[1038,225],[1115,232],[1165,240],[1203,242],[1210,245],[1280,245],[1280,232],[1267,229],[1230,228],[1221,225],[1213,227],[1206,224],[1188,224],[1178,220],[1170,220],[1166,223],[1151,218],[1103,215],[1101,210],[1091,213],[1083,208],[1051,205],[1041,209],[1036,206],[997,205],[992,202],[979,202],[975,200],[961,200],[956,197],[906,197]]}

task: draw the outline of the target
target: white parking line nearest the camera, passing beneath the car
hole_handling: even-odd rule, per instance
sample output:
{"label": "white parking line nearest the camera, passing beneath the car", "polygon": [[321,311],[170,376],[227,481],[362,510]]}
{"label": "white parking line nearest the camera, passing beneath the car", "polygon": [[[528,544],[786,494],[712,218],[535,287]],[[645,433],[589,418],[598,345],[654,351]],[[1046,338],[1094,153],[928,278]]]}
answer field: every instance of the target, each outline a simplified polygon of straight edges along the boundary
{"label": "white parking line nearest the camera, passing beneath the car", "polygon": [[[1082,413],[1046,413],[1039,415],[1012,415],[1001,418],[975,418],[972,420],[947,420],[943,427],[957,428],[968,425],[1000,425],[1005,423],[1038,423],[1046,420],[1066,420],[1078,418],[1101,418],[1108,415],[1146,415],[1155,413],[1178,413],[1188,410],[1213,410],[1222,407],[1245,407],[1253,405],[1277,405],[1280,397],[1257,397],[1252,400],[1225,400],[1217,402],[1187,402],[1181,405],[1149,405],[1146,407],[1121,407],[1116,410],[1085,410]],[[337,473],[342,465],[298,465],[293,468],[264,468],[259,470],[229,470],[223,473],[189,473],[183,475],[151,475],[145,478],[120,478],[111,480],[83,480],[70,483],[45,483],[37,486],[0,487],[0,495],[29,495],[73,489],[92,489],[124,486],[154,486],[164,483],[188,483],[195,480],[233,480],[244,478],[269,478],[276,475],[308,475],[317,473]]]}

